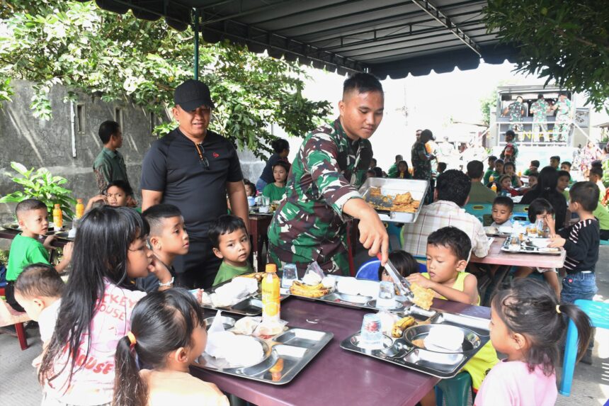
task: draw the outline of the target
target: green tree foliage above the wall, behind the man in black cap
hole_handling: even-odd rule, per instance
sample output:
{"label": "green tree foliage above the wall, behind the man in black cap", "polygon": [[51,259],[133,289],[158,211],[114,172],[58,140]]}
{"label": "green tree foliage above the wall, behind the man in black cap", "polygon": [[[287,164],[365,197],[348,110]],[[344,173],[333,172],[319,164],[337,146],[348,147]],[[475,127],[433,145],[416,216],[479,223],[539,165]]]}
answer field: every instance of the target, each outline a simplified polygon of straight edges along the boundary
{"label": "green tree foliage above the wall, behind the man in black cap", "polygon": [[[138,20],[98,9],[93,1],[11,0],[0,4],[0,103],[10,80],[34,82],[31,108],[52,115],[49,89],[62,84],[103,101],[130,101],[171,123],[173,89],[193,75],[193,33],[162,21]],[[297,63],[256,55],[229,43],[200,46],[200,79],[216,103],[211,128],[258,157],[270,152],[267,128],[278,123],[289,135],[305,135],[328,115],[326,101],[302,97],[305,72]]]}

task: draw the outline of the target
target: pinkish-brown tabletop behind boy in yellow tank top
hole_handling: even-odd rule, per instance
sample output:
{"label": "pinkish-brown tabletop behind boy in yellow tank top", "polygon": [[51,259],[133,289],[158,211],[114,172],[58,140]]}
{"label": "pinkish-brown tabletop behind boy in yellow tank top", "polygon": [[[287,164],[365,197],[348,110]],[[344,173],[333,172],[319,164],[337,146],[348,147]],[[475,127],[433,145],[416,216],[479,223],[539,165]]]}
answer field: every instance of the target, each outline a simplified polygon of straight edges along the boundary
{"label": "pinkish-brown tabletop behind boy in yellow tank top", "polygon": [[472,254],[469,261],[476,264],[489,265],[508,265],[508,266],[531,266],[537,268],[562,268],[564,259],[567,253],[562,249],[560,255],[542,255],[542,254],[513,254],[511,252],[501,251],[503,242],[506,237],[494,237],[495,240],[491,244],[489,254],[484,258],[479,258]]}

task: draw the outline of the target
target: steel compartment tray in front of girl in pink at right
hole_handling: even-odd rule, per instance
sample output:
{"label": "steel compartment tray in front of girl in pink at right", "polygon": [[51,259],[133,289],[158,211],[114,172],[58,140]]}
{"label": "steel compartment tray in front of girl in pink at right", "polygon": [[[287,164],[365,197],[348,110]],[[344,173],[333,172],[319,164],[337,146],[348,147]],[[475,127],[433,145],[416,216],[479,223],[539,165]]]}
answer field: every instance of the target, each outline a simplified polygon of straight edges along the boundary
{"label": "steel compartment tray in front of girl in pink at right", "polygon": [[[416,346],[406,339],[406,337],[412,339],[426,337],[426,332],[433,328],[433,325],[450,325],[461,329],[465,336],[462,351],[431,351]],[[467,361],[489,342],[489,320],[440,312],[427,322],[409,327],[399,339],[385,336],[382,349],[363,349],[358,346],[359,340],[360,332],[357,332],[344,339],[341,348],[438,378],[453,378]]]}

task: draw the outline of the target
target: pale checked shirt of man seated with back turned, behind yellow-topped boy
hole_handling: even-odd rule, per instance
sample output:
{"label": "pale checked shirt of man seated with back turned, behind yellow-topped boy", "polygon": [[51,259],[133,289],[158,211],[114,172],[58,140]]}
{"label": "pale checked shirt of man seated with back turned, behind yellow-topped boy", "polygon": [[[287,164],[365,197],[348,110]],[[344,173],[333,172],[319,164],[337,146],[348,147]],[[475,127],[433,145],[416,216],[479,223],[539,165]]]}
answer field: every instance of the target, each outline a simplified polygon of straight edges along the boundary
{"label": "pale checked shirt of man seated with back turned, behind yellow-topped boy", "polygon": [[437,201],[423,206],[416,222],[402,227],[404,251],[414,256],[426,256],[427,237],[434,231],[448,226],[465,232],[472,241],[472,252],[482,257],[489,253],[489,239],[484,233],[480,220],[465,213],[456,203]]}

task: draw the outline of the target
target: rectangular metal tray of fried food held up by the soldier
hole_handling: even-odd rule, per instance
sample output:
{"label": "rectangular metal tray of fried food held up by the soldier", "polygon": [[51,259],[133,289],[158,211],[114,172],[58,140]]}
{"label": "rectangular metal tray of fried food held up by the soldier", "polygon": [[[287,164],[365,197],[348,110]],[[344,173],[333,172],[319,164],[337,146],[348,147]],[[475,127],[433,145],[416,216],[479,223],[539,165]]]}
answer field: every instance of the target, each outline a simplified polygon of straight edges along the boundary
{"label": "rectangular metal tray of fried food held up by the soldier", "polygon": [[419,181],[412,179],[387,179],[387,178],[370,178],[366,179],[360,187],[360,195],[365,201],[370,201],[370,188],[381,188],[383,196],[396,195],[398,193],[410,192],[412,198],[421,201],[419,208],[415,213],[401,213],[389,210],[377,210],[377,213],[382,221],[388,222],[415,222],[419,217],[419,212],[423,207],[423,199],[429,188],[428,181]]}

